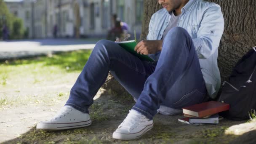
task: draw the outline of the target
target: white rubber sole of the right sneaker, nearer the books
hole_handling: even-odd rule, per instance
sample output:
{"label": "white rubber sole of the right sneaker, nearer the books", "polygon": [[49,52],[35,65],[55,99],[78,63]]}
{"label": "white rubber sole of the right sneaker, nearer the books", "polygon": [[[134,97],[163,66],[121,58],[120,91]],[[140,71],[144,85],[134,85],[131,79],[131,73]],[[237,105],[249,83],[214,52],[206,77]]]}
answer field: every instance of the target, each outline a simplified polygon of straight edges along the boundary
{"label": "white rubber sole of the right sneaker, nearer the books", "polygon": [[121,139],[121,140],[133,140],[133,139],[139,139],[144,133],[147,133],[149,130],[153,128],[153,123],[152,125],[146,126],[143,130],[139,131],[138,133],[113,133],[113,139]]}

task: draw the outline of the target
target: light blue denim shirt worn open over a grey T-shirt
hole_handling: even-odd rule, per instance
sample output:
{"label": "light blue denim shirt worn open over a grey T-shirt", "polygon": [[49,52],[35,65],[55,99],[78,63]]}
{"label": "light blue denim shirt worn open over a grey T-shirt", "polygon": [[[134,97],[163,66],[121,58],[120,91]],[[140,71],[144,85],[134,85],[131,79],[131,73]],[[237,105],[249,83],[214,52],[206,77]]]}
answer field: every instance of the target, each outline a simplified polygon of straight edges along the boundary
{"label": "light blue denim shirt worn open over a grey T-shirt", "polygon": [[[153,14],[149,22],[147,40],[161,40],[171,16],[163,8]],[[203,0],[189,0],[181,9],[178,27],[187,30],[192,37],[199,58],[208,95],[215,98],[221,83],[218,68],[218,47],[224,31],[221,7]],[[161,52],[149,55],[156,61]]]}

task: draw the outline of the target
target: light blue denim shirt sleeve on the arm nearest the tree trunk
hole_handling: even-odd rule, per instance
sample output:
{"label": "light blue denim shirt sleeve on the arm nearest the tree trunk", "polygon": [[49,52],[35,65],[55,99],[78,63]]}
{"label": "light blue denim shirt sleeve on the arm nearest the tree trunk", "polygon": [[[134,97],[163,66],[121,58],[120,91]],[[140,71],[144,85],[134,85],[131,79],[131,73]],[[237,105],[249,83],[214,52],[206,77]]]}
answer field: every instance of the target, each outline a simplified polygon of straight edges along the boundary
{"label": "light blue denim shirt sleeve on the arm nearest the tree trunk", "polygon": [[219,47],[224,32],[224,18],[219,5],[208,8],[200,23],[197,38],[192,39],[199,59],[207,59]]}

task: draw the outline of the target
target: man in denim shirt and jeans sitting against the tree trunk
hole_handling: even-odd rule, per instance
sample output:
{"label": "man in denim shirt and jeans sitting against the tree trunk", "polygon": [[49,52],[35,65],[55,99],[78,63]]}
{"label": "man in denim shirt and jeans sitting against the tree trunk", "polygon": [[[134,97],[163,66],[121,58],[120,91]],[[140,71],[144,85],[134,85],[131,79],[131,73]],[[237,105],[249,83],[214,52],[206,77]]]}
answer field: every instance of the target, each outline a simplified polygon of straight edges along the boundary
{"label": "man in denim shirt and jeans sitting against the tree trunk", "polygon": [[203,0],[158,0],[163,9],[149,23],[147,40],[135,51],[156,62],[141,61],[118,44],[100,40],[64,107],[37,129],[62,130],[91,125],[88,107],[109,71],[136,99],[113,133],[114,139],[137,139],[153,127],[161,107],[170,115],[214,98],[220,87],[218,47],[224,31],[221,8]]}

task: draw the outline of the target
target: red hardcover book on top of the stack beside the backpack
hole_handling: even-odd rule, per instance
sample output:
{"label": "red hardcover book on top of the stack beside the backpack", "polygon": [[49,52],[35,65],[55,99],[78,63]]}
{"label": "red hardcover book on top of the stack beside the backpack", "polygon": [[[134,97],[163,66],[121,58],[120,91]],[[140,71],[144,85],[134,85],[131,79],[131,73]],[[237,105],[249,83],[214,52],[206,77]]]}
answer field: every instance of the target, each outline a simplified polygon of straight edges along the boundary
{"label": "red hardcover book on top of the stack beside the backpack", "polygon": [[195,117],[205,117],[213,115],[218,112],[229,110],[229,104],[221,103],[219,101],[208,101],[201,104],[195,104],[189,107],[184,107],[183,113]]}

